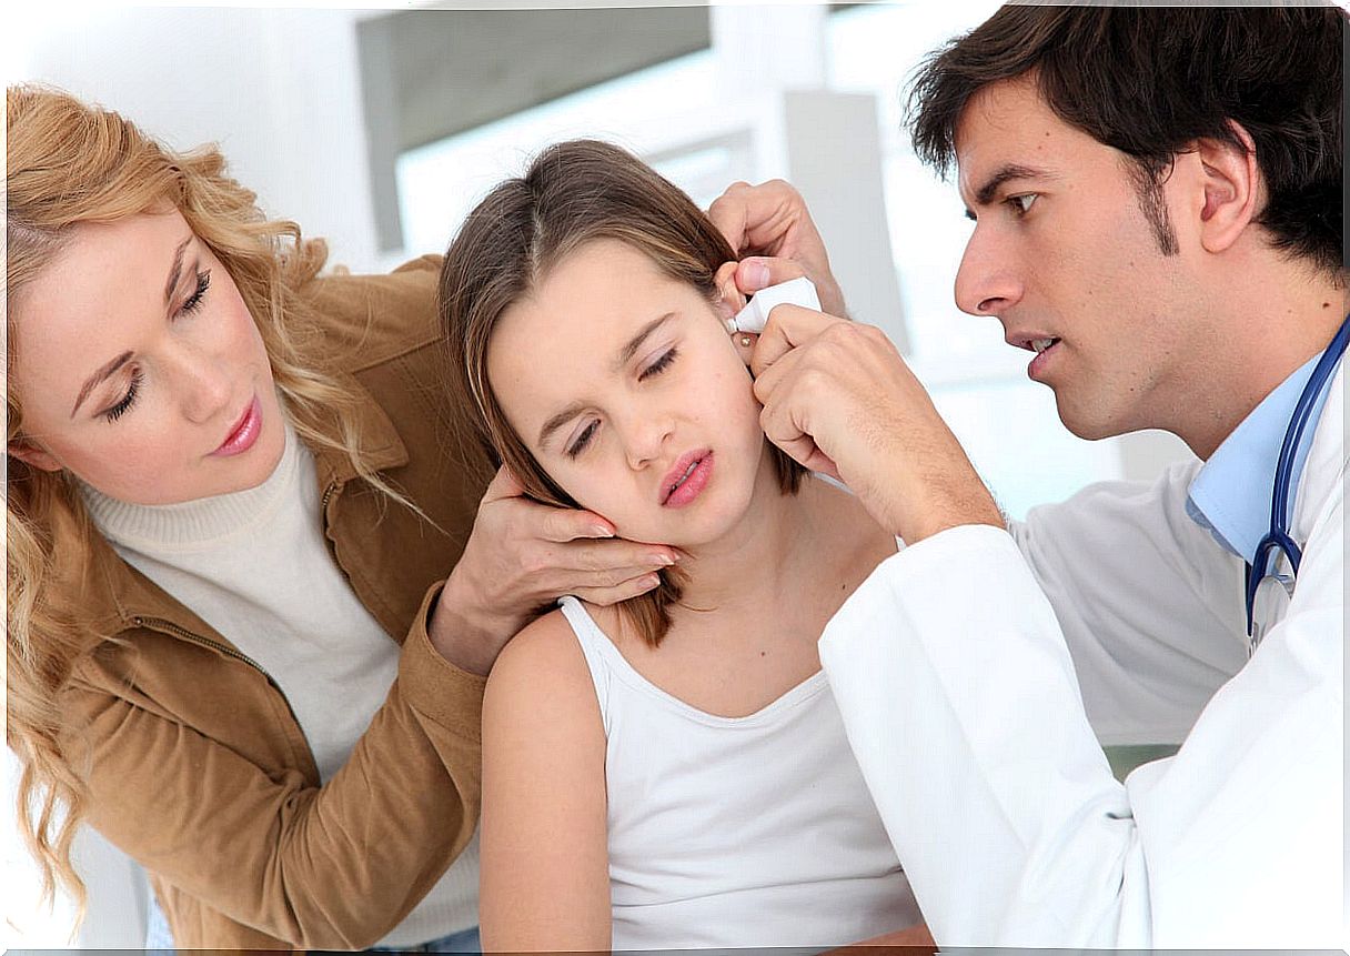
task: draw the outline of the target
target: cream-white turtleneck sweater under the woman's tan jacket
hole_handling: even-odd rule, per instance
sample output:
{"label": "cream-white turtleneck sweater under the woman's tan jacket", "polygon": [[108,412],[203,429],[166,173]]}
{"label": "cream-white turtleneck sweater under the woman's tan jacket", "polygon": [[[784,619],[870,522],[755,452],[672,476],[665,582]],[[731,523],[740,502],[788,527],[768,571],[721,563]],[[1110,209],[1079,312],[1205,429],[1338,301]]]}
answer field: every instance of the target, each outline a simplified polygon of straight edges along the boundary
{"label": "cream-white turtleneck sweater under the woman's tan jacket", "polygon": [[[328,554],[315,459],[286,448],[258,487],[177,505],[131,505],[82,486],[122,558],[192,608],[281,687],[327,783],[385,702],[398,644]],[[408,947],[478,922],[478,837],[377,945]]]}

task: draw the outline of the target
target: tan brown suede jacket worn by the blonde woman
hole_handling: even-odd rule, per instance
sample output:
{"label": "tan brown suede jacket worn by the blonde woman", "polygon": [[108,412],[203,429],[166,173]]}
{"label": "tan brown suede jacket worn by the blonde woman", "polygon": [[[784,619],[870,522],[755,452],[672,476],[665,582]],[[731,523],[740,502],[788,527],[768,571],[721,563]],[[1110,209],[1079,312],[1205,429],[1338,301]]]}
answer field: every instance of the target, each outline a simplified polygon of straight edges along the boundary
{"label": "tan brown suede jacket worn by the blonde woman", "polygon": [[366,460],[448,532],[315,451],[332,555],[402,644],[387,699],[327,786],[281,690],[225,637],[97,533],[58,558],[73,606],[116,639],[63,698],[88,748],[88,821],[150,871],[181,948],[369,947],[478,822],[485,682],[437,655],[425,624],[490,477],[444,408],[437,269],[427,257],[306,289],[325,354],[369,397]]}

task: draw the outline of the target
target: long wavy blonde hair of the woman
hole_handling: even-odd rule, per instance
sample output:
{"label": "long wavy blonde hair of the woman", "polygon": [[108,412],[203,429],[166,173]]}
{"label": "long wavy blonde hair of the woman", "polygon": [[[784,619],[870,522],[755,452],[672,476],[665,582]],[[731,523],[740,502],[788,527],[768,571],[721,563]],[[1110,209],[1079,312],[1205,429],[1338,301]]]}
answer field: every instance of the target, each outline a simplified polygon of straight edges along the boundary
{"label": "long wavy blonde hair of the woman", "polygon": [[[20,292],[61,255],[80,224],[176,208],[239,288],[296,432],[309,447],[344,454],[358,475],[402,501],[359,455],[359,398],[305,358],[319,329],[298,293],[327,259],[321,240],[301,239],[294,223],[266,219],[256,196],[225,174],[216,147],[171,153],[116,112],[63,92],[11,86],[5,127],[8,442],[23,437],[23,408],[9,374]],[[58,548],[84,554],[97,532],[68,475],[12,455],[7,464],[7,743],[23,764],[19,829],[42,870],[43,898],[61,883],[82,914],[84,886],[70,864],[70,844],[88,799],[88,755],[74,752],[78,735],[72,731],[78,728],[63,717],[59,695],[80,658],[113,635],[94,633],[80,609],[62,601],[54,556]]]}

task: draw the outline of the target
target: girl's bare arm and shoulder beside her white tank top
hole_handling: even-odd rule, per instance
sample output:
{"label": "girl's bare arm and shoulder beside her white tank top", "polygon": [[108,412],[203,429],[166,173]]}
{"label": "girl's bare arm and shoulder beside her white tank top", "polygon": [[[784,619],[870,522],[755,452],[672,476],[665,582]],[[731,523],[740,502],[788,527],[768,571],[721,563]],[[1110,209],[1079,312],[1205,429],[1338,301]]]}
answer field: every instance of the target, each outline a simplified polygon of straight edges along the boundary
{"label": "girl's bare arm and shoulder beside her white tank top", "polygon": [[609,951],[605,729],[560,612],[502,651],[483,698],[479,918],[489,951]]}

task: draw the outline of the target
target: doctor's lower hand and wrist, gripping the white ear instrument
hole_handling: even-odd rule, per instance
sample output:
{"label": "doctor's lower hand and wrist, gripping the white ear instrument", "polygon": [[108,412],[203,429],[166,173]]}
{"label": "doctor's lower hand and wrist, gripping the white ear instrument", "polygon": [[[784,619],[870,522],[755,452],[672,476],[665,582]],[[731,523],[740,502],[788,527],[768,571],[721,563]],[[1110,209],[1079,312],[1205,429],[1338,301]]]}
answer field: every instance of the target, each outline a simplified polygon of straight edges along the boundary
{"label": "doctor's lower hand and wrist, gripping the white ear instrument", "polygon": [[879,328],[779,305],[751,371],[768,439],[848,485],[907,544],[963,524],[1006,527],[933,400]]}

